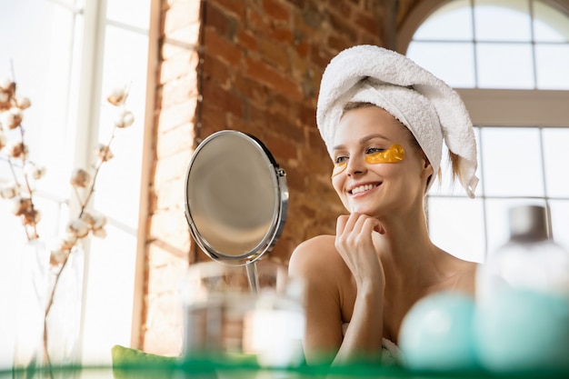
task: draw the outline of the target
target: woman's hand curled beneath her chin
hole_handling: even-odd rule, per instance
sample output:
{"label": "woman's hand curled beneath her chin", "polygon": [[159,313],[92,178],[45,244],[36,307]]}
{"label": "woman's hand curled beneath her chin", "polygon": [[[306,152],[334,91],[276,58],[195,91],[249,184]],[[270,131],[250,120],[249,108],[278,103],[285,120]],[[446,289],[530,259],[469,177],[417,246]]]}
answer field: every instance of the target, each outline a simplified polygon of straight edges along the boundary
{"label": "woman's hand curled beneath her chin", "polygon": [[384,230],[373,217],[357,213],[341,215],[336,223],[334,245],[354,275],[358,288],[375,284],[383,290],[384,269],[374,246],[374,232],[384,233]]}

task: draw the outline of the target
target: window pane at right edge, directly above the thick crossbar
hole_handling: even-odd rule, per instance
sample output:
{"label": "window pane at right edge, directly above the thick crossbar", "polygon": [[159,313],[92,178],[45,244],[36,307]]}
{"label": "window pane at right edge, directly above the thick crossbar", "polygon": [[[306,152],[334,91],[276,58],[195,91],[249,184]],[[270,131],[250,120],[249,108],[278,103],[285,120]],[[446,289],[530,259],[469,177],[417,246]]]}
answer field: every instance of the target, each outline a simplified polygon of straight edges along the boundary
{"label": "window pane at right edge, directly above the thick crossbar", "polygon": [[569,45],[535,45],[537,88],[569,89]]}

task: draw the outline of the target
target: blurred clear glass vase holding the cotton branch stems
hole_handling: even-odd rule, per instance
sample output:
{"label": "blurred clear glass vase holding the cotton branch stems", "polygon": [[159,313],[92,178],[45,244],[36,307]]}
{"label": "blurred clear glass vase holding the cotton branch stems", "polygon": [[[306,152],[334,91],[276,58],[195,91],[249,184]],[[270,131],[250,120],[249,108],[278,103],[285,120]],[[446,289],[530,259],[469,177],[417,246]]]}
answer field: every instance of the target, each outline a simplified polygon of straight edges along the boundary
{"label": "blurred clear glass vase holding the cotton branch stems", "polygon": [[25,246],[15,341],[17,378],[74,377],[73,370],[51,369],[80,364],[84,250],[76,245],[65,264],[49,261],[44,242]]}

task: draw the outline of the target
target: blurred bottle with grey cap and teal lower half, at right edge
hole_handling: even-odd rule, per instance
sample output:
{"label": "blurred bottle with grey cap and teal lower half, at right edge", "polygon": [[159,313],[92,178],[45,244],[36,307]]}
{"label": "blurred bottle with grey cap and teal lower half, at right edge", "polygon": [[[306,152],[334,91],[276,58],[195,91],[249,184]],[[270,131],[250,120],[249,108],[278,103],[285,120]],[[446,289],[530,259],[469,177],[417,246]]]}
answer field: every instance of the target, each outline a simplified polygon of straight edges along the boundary
{"label": "blurred bottle with grey cap and teal lower half, at right edge", "polygon": [[510,240],[479,267],[475,334],[494,372],[569,372],[569,251],[544,206],[510,209]]}

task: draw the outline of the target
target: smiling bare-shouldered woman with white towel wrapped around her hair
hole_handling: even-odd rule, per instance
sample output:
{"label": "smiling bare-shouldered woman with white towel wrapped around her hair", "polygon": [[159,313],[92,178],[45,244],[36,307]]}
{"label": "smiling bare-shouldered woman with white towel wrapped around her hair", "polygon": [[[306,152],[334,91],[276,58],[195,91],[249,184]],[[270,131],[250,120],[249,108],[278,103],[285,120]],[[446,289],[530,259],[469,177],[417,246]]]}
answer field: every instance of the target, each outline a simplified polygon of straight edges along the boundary
{"label": "smiling bare-shouldered woman with white towel wrapped around her hair", "polygon": [[475,264],[430,239],[424,195],[439,174],[443,142],[453,176],[474,197],[474,131],[443,81],[381,47],[344,50],[324,71],[316,112],[349,215],[335,235],[291,256],[306,292],[309,364],[382,361],[396,351],[404,315],[427,294],[474,293]]}

